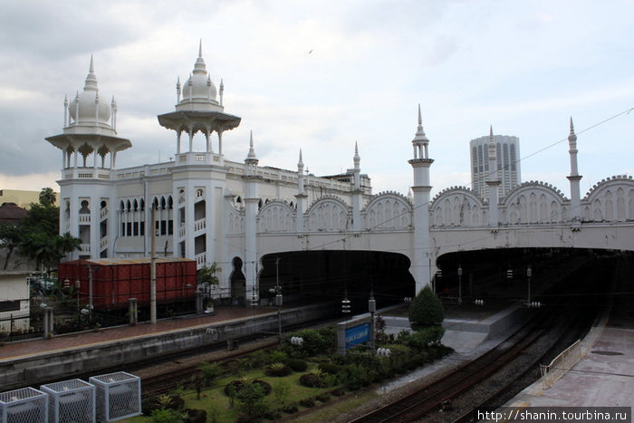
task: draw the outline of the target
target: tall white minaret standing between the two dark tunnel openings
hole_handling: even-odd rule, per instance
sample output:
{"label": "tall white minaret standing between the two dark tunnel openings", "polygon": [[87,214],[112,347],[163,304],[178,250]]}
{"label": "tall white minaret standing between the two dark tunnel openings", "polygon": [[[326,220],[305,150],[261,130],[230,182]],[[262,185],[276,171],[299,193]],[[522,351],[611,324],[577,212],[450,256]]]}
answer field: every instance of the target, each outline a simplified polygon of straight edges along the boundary
{"label": "tall white minaret standing between the two dark tunnel openings", "polygon": [[418,129],[412,145],[414,159],[408,162],[414,170],[414,255],[412,260],[412,274],[416,281],[416,293],[429,284],[430,250],[429,250],[429,167],[434,162],[429,159],[427,147],[429,139],[423,130],[423,120],[418,104]]}

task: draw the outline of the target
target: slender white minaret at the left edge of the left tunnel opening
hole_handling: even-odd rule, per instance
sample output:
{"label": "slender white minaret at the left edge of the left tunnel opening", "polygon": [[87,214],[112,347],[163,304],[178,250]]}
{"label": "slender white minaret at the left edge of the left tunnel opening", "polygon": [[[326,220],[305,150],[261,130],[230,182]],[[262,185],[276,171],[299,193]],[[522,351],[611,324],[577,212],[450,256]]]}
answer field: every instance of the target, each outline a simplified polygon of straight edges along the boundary
{"label": "slender white minaret at the left edge of the left tunnel opening", "polygon": [[262,177],[257,176],[258,159],[255,156],[254,135],[251,131],[249,139],[249,153],[245,159],[245,278],[246,295],[251,296],[251,304],[255,305],[258,298],[257,286],[257,239],[255,217],[258,212],[260,197],[258,184]]}

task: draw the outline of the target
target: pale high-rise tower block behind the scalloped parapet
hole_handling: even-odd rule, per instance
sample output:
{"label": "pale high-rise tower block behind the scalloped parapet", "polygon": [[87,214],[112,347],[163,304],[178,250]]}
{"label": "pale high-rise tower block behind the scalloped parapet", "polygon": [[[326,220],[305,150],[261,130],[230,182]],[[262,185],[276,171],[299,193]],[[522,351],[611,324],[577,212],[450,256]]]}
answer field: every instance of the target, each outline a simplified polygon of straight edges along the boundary
{"label": "pale high-rise tower block behind the scalloped parapet", "polygon": [[[493,137],[497,157],[498,198],[505,197],[514,187],[521,182],[520,172],[520,139],[509,135],[491,135],[471,139],[471,187],[476,193],[488,199],[489,193],[486,181],[495,175],[489,170],[488,144]],[[493,169],[492,169],[493,170]]]}

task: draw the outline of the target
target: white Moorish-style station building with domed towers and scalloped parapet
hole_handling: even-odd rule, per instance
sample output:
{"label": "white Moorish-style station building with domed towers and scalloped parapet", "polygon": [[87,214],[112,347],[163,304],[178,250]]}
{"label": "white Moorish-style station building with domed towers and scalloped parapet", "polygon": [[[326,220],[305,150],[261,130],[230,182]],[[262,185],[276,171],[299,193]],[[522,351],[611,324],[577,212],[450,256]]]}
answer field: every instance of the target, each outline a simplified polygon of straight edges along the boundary
{"label": "white Moorish-style station building with domed towers and scalloped parapet", "polygon": [[[494,136],[493,130],[482,155],[476,148],[482,171],[494,169],[477,182],[480,194],[452,187],[430,199],[434,160],[420,109],[408,161],[413,196],[373,195],[356,146],[353,167],[330,177],[306,174],[301,150],[296,170],[260,166],[253,135],[245,139],[244,160],[226,159],[223,132],[241,118],[225,112],[223,91],[222,82],[219,90],[211,82],[199,51],[187,82],[177,83],[176,110],[159,115],[159,124],[175,131],[174,159],[118,169],[117,154],[131,143],[117,136],[116,102],[101,101],[91,63],[82,93],[64,101],[62,134],[47,138],[62,150],[60,230],[82,239],[81,251],[69,259],[149,256],[152,206],[159,256],[195,259],[199,267],[216,263],[222,295],[254,301],[265,255],[325,250],[403,255],[418,293],[435,274],[437,257],[450,251],[592,243],[634,249],[634,236],[625,236],[634,228],[634,182],[611,178],[581,198],[572,122],[570,199],[542,182],[519,185],[519,141]],[[201,139],[202,149],[196,147]],[[487,204],[485,197],[494,201]],[[604,231],[606,221],[624,226],[619,243],[602,245],[601,236],[590,236]],[[581,231],[586,227],[590,230]],[[576,241],[580,234],[588,241]]]}

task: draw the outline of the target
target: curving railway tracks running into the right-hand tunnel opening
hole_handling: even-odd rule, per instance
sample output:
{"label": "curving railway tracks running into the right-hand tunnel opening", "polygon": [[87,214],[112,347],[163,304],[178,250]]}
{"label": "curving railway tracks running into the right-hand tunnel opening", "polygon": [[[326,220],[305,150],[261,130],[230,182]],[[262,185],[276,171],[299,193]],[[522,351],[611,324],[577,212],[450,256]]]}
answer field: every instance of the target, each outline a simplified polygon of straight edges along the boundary
{"label": "curving railway tracks running into the right-hand tunnel opening", "polygon": [[[585,276],[595,280],[605,277],[605,267],[598,266]],[[555,301],[560,293],[550,294],[550,299]],[[447,378],[350,421],[476,421],[476,409],[499,407],[504,404],[504,398],[512,398],[536,380],[539,377],[537,364],[548,361],[549,356],[552,358],[581,338],[599,311],[593,295],[588,296],[586,303],[579,303],[576,297],[572,302],[565,296],[557,301],[564,305],[536,311],[538,315],[533,322]],[[566,302],[570,303],[565,305]],[[518,380],[524,384],[520,385]]]}

